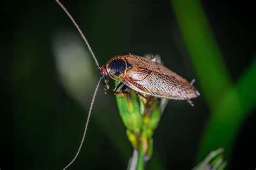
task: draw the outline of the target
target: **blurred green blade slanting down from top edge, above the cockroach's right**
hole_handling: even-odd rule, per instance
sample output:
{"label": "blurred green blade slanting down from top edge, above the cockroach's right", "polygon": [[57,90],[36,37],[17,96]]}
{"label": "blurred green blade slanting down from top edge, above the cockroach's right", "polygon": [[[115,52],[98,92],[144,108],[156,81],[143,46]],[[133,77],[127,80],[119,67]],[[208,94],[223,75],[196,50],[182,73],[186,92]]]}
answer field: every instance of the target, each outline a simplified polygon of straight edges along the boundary
{"label": "blurred green blade slanting down from top edge, above the cockroach's right", "polygon": [[199,78],[203,95],[211,108],[231,86],[220,49],[197,0],[171,1],[181,33]]}

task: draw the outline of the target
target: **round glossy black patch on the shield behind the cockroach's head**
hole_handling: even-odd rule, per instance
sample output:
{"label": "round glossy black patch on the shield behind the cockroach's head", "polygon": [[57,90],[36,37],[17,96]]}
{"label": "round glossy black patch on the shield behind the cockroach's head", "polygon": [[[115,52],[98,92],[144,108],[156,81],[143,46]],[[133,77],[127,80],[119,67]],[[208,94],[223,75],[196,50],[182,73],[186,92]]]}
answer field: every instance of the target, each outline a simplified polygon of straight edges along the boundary
{"label": "round glossy black patch on the shield behind the cockroach's head", "polygon": [[115,75],[124,73],[126,63],[122,59],[115,59],[109,63],[109,72]]}

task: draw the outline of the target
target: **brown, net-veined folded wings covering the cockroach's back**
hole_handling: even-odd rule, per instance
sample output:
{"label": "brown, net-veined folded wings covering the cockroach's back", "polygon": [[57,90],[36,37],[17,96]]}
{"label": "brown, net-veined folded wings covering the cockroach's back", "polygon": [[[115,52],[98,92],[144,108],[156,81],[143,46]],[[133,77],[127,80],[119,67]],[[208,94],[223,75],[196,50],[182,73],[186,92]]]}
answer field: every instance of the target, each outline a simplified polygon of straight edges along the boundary
{"label": "brown, net-veined folded wings covering the cockroach's back", "polygon": [[139,93],[174,100],[188,100],[199,96],[198,91],[186,79],[172,70],[136,55],[124,56],[131,67],[122,81]]}

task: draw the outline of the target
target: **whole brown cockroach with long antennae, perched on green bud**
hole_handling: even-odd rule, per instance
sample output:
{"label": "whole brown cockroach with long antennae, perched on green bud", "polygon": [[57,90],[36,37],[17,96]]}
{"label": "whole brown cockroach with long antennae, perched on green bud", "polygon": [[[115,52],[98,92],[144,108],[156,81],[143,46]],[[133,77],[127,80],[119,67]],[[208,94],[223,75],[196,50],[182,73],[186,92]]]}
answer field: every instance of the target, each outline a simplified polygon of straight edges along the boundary
{"label": "whole brown cockroach with long antennae, perched on green bud", "polygon": [[56,0],[56,2],[65,11],[66,15],[69,16],[72,23],[76,26],[78,32],[81,34],[90,53],[92,54],[96,65],[100,69],[100,73],[102,74],[92,97],[87,121],[85,124],[84,134],[78,151],[72,161],[66,167],[64,167],[64,169],[68,168],[76,160],[80,149],[82,148],[91,116],[93,103],[95,101],[100,81],[103,78],[105,80],[105,93],[109,89],[107,83],[109,81],[109,77],[111,77],[113,80],[119,81],[117,87],[114,89],[115,93],[124,93],[127,88],[131,88],[138,94],[167,98],[171,100],[187,100],[191,105],[193,105],[193,103],[190,99],[200,95],[197,89],[193,86],[194,80],[192,80],[192,82],[188,82],[186,79],[174,73],[169,68],[166,68],[165,66],[161,65],[161,63],[156,62],[156,58],[154,57],[152,57],[152,59],[148,59],[144,56],[132,54],[118,55],[108,61],[106,66],[99,67],[96,56],[93,53],[89,42],[80,30],[79,26],[70,15],[68,10],[66,10],[66,8],[62,5],[62,3],[60,3],[58,0]]}

